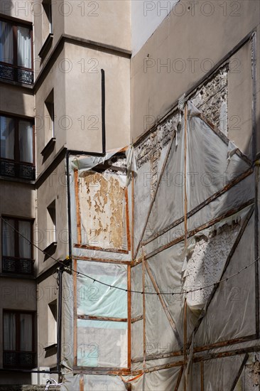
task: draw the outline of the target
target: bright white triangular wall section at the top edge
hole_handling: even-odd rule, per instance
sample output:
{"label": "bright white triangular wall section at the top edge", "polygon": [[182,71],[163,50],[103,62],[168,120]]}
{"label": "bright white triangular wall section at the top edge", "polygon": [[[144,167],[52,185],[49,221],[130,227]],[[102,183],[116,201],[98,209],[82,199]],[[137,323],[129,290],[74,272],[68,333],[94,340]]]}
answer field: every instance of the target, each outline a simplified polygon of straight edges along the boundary
{"label": "bright white triangular wall section at the top edge", "polygon": [[179,0],[131,0],[132,53],[135,55]]}

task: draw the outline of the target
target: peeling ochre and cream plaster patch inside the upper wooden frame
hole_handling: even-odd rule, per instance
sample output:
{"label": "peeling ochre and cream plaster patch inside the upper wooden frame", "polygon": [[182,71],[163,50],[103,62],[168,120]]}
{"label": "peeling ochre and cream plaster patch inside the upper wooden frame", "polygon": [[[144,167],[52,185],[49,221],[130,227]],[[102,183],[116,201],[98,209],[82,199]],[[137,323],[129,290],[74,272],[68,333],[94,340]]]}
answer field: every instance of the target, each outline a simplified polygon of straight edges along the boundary
{"label": "peeling ochre and cream plaster patch inside the upper wooden frame", "polygon": [[82,244],[124,250],[124,187],[115,174],[86,171],[79,181]]}

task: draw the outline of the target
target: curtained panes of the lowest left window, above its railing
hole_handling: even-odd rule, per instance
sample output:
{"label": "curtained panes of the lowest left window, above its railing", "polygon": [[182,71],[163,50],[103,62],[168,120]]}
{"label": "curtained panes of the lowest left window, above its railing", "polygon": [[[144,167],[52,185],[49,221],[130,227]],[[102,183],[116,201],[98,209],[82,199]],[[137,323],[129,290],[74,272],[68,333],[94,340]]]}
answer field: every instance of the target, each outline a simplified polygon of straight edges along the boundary
{"label": "curtained panes of the lowest left window, above its railing", "polygon": [[4,311],[4,351],[33,351],[33,314]]}

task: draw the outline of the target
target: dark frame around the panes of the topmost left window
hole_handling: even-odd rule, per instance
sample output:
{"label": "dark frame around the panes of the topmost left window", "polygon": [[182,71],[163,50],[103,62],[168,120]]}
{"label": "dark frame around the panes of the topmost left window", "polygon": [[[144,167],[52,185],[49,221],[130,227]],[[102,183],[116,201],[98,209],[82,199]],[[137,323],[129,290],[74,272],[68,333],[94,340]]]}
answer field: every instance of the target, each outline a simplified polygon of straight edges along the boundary
{"label": "dark frame around the panes of the topmost left window", "polygon": [[[5,63],[4,61],[0,61],[1,65],[9,66],[15,69],[29,70],[33,72],[33,25],[31,22],[26,23],[26,21],[21,21],[17,18],[8,18],[6,16],[0,15],[0,21],[5,23],[9,23],[12,26],[13,31],[13,64]],[[26,68],[21,65],[18,65],[18,40],[17,40],[17,28],[18,27],[26,27],[31,31],[31,68]]]}

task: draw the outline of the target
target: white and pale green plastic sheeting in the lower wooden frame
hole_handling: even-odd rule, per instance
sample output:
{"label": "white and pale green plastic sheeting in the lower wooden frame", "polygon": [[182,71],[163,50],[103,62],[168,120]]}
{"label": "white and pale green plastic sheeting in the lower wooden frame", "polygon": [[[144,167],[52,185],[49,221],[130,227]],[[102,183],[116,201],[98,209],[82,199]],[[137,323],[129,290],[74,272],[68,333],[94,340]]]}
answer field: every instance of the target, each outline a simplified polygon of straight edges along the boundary
{"label": "white and pale green plastic sheeting in the lower wooden frame", "polygon": [[[105,320],[77,319],[77,365],[82,367],[127,367],[127,318],[125,290],[127,269],[122,264],[77,261],[77,316],[105,316]],[[92,279],[83,276],[87,274]]]}

